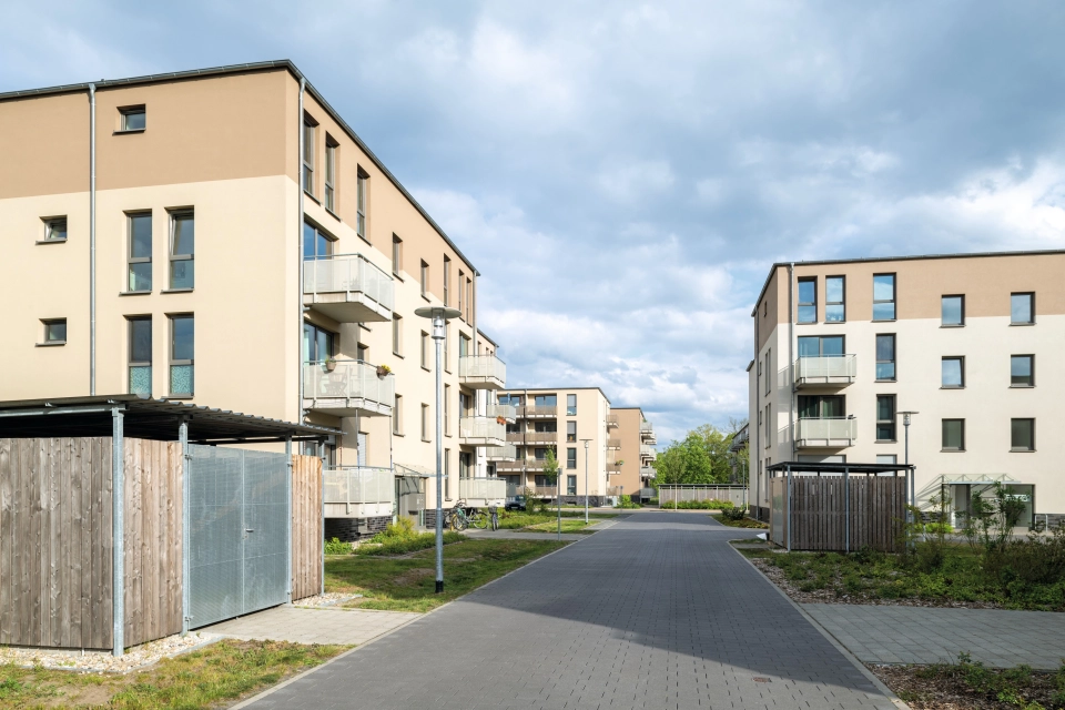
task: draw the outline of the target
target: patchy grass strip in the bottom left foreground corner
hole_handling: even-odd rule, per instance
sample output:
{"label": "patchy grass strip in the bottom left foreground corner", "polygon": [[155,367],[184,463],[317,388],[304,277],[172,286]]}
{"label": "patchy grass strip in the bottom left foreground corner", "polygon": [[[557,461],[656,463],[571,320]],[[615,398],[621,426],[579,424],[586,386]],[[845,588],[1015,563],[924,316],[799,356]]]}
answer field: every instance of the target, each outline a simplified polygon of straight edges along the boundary
{"label": "patchy grass strip in the bottom left foreground corner", "polygon": [[126,674],[0,666],[0,708],[214,708],[347,648],[227,639]]}

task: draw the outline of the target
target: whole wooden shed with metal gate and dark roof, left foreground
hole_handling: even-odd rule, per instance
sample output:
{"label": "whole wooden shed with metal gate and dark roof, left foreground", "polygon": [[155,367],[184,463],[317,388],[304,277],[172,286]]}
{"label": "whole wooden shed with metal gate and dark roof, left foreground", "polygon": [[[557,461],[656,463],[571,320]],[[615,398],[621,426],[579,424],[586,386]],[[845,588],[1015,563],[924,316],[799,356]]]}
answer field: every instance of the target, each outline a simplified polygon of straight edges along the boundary
{"label": "whole wooden shed with metal gate and dark roof, left foreground", "polygon": [[0,643],[121,655],[318,594],[322,462],[292,443],[334,434],[136,395],[0,402]]}

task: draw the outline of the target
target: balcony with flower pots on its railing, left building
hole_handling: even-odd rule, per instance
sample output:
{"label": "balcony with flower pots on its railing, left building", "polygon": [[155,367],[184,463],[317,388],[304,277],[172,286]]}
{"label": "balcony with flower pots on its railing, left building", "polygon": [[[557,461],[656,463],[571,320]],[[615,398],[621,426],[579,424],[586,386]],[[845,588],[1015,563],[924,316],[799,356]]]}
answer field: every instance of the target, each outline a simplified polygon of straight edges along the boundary
{"label": "balcony with flower pots on its railing, left building", "polygon": [[303,408],[335,417],[389,416],[396,400],[396,377],[377,375],[362,361],[304,363]]}

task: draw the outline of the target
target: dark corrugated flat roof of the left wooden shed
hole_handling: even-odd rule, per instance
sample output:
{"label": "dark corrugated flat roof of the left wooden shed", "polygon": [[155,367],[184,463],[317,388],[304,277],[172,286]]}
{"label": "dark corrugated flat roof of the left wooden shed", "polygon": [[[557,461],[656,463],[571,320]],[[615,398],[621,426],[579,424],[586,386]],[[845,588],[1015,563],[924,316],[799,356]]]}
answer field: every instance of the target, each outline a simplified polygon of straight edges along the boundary
{"label": "dark corrugated flat roof of the left wooden shed", "polygon": [[123,435],[172,442],[182,420],[189,440],[205,444],[318,440],[341,434],[310,424],[204,407],[187,402],[139,395],[100,395],[0,402],[0,437],[111,436],[112,410],[123,413]]}

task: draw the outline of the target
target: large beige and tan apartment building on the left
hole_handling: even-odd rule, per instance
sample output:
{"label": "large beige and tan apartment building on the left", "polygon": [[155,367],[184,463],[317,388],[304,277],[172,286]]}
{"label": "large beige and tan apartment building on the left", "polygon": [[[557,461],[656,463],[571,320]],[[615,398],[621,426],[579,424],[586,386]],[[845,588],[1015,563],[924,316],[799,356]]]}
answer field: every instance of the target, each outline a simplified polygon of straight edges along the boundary
{"label": "large beige and tan apartment building on the left", "polygon": [[477,493],[459,479],[505,436],[487,409],[506,378],[479,274],[294,64],[0,94],[0,290],[20,304],[0,313],[0,398],[138,393],[334,427],[327,516],[422,523],[436,373],[415,310],[452,306],[445,497]]}

